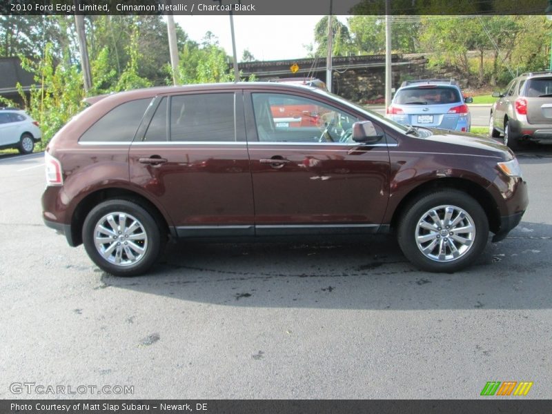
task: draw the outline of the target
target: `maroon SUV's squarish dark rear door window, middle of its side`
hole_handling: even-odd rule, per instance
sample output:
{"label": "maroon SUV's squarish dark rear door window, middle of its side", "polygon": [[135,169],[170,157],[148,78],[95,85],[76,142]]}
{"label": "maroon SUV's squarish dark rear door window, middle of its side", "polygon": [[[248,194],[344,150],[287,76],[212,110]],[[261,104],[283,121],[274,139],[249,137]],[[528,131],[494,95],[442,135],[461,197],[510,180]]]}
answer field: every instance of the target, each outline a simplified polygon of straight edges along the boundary
{"label": "maroon SUV's squarish dark rear door window, middle of its side", "polygon": [[235,141],[234,93],[172,97],[170,140]]}

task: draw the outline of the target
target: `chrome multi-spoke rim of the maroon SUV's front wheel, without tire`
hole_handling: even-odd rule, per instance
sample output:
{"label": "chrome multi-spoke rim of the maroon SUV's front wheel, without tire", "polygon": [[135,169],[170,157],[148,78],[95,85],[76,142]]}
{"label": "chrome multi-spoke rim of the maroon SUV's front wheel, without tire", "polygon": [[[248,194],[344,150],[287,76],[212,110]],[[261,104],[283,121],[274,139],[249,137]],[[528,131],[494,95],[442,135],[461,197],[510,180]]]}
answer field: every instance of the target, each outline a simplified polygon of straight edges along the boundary
{"label": "chrome multi-spoke rim of the maroon SUV's front wheel, without tire", "polygon": [[425,257],[452,262],[473,246],[475,223],[460,207],[437,206],[420,217],[415,233],[416,244]]}

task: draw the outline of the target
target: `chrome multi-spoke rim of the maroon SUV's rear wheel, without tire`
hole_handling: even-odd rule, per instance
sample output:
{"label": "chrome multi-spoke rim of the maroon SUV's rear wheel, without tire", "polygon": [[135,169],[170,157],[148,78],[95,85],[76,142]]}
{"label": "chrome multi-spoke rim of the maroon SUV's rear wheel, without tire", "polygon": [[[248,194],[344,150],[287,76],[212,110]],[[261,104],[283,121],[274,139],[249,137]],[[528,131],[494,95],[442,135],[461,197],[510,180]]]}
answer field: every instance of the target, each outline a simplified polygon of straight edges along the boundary
{"label": "chrome multi-spoke rim of the maroon SUV's rear wheel, without tire", "polygon": [[94,228],[94,244],[103,259],[116,266],[139,262],[148,250],[144,225],[128,213],[104,215]]}

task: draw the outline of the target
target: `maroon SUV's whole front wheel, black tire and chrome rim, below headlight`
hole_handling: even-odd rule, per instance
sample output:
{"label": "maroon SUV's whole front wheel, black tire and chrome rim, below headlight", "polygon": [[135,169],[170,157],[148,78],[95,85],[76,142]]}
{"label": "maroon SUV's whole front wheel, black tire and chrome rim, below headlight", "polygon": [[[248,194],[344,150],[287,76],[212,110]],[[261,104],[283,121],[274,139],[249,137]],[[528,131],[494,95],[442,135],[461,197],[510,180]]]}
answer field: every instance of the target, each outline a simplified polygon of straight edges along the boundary
{"label": "maroon SUV's whole front wheel, black tire and chrome rim, below headlight", "polygon": [[[448,219],[445,215],[447,208],[452,212]],[[440,224],[433,219],[425,221],[434,225],[434,230],[426,230],[425,223],[422,223],[431,216],[431,210],[437,213]],[[460,221],[454,224],[456,219]],[[470,226],[473,227],[472,234],[464,231]],[[459,233],[455,234],[455,230]],[[458,190],[436,190],[415,198],[406,206],[397,228],[397,240],[404,255],[428,272],[452,273],[472,264],[485,248],[488,238],[489,222],[483,208],[475,199]],[[460,242],[462,240],[465,242]],[[422,253],[422,248],[426,253]],[[453,250],[456,250],[457,257]]]}

